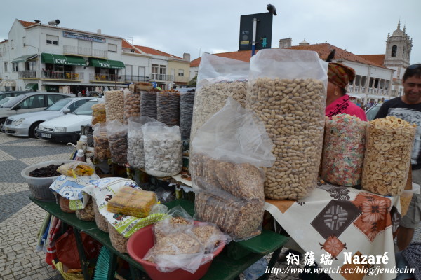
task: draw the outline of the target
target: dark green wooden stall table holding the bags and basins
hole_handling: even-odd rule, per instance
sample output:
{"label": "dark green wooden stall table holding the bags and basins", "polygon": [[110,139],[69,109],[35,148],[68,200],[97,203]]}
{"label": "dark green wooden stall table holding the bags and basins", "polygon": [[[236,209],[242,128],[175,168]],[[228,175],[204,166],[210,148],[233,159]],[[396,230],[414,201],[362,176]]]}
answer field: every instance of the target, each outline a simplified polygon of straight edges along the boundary
{"label": "dark green wooden stall table holding the bags and basins", "polygon": [[[107,279],[114,279],[117,256],[128,262],[133,279],[141,278],[142,274],[139,273],[139,270],[142,272],[145,271],[142,265],[135,262],[135,260],[133,260],[128,254],[116,251],[112,246],[111,241],[109,241],[108,233],[99,230],[95,222],[81,221],[75,214],[68,214],[61,211],[60,206],[55,202],[43,202],[41,200],[36,200],[32,197],[32,195],[29,195],[29,199],[51,215],[59,218],[64,223],[71,225],[74,228],[84,279],[89,279],[89,276],[87,273],[88,262],[83,253],[83,248],[81,247],[80,233],[82,231],[100,241],[103,246],[106,246],[111,251],[112,254],[109,261]],[[194,203],[187,200],[174,200],[166,203],[166,205],[170,209],[180,205],[189,214],[194,214]],[[276,232],[269,230],[262,230],[261,235],[248,239],[247,241],[231,242],[227,246],[227,249],[220,253],[215,260],[213,260],[212,265],[210,265],[210,269],[202,279],[235,279],[241,272],[250,267],[250,265],[253,265],[253,263],[260,260],[260,258],[272,252],[274,253],[269,261],[269,267],[273,267],[276,262],[276,258],[281,252],[281,248],[286,241],[288,241],[288,237],[279,235]],[[262,279],[267,279],[268,277],[269,274],[265,274],[265,276],[262,276]]]}

